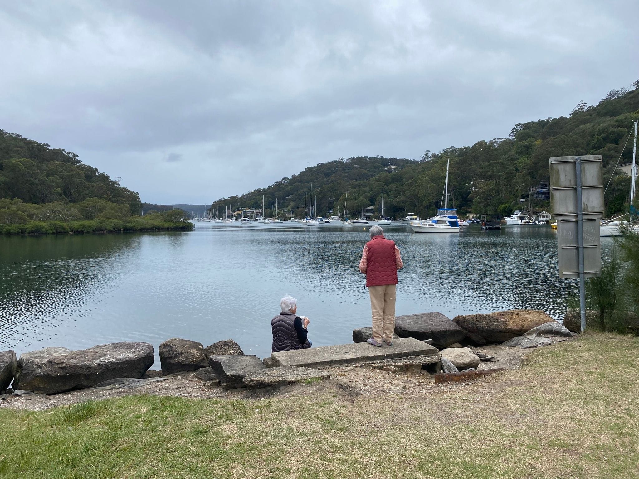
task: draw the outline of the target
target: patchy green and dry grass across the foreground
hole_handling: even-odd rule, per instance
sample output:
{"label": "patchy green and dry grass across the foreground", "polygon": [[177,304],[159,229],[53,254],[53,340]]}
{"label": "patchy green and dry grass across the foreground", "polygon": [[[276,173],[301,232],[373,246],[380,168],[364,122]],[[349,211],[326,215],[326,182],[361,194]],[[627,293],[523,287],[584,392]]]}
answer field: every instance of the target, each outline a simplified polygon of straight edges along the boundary
{"label": "patchy green and dry grass across the foreground", "polygon": [[404,397],[135,396],[1,410],[0,476],[639,477],[639,340],[586,335],[527,362]]}

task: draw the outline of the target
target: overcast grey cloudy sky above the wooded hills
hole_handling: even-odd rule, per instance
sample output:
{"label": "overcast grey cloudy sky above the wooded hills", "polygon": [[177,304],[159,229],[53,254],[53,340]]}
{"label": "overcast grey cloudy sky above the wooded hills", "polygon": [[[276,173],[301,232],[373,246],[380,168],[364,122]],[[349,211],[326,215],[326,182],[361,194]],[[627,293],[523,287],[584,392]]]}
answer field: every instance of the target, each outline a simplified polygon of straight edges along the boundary
{"label": "overcast grey cloudy sky above the wooded hills", "polygon": [[0,0],[0,128],[154,203],[419,158],[639,78],[639,2]]}

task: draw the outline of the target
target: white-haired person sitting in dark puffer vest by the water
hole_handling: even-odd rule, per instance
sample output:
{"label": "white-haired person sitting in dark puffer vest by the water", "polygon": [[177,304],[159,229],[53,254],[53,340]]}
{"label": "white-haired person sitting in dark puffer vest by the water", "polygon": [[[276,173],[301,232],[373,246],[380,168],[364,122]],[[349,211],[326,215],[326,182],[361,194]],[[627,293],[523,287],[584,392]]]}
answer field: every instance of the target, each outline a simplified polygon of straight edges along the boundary
{"label": "white-haired person sitting in dark puffer vest by the water", "polygon": [[280,301],[281,313],[271,320],[273,330],[273,346],[271,351],[290,351],[291,349],[305,349],[311,347],[308,340],[309,319],[297,316],[297,300],[291,296],[284,296]]}

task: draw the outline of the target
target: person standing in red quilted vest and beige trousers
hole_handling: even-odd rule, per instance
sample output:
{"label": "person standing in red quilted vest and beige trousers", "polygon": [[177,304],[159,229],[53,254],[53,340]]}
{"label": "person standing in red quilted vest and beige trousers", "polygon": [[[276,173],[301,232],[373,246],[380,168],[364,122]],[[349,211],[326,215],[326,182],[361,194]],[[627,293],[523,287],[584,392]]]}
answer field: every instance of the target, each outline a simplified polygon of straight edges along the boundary
{"label": "person standing in red quilted vest and beige trousers", "polygon": [[380,226],[372,226],[371,241],[364,247],[359,266],[360,272],[366,275],[366,287],[371,296],[373,337],[368,344],[381,346],[382,341],[388,346],[393,344],[397,270],[403,266],[395,242],[384,238]]}

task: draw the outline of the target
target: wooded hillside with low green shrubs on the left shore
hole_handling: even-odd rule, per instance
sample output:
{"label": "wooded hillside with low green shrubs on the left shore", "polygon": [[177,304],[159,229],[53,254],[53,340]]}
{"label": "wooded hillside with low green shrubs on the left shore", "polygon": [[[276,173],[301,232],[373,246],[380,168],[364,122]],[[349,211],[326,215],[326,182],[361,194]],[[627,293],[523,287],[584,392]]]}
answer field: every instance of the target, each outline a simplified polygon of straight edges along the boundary
{"label": "wooded hillside with low green shrubs on the left shore", "polygon": [[85,165],[75,153],[0,130],[0,232],[191,227],[178,221],[181,210],[140,217],[141,211],[137,193]]}

